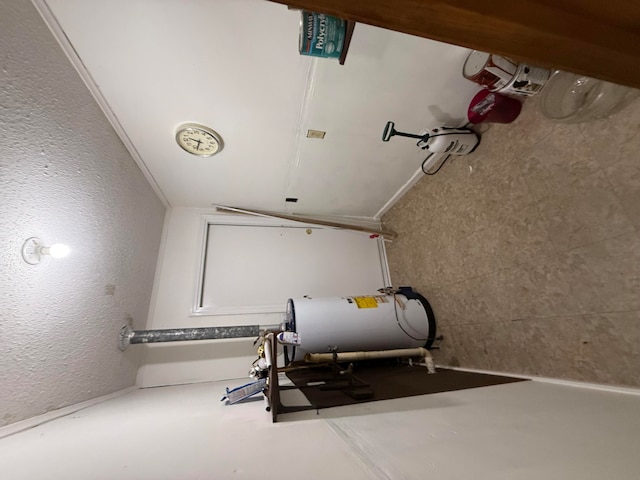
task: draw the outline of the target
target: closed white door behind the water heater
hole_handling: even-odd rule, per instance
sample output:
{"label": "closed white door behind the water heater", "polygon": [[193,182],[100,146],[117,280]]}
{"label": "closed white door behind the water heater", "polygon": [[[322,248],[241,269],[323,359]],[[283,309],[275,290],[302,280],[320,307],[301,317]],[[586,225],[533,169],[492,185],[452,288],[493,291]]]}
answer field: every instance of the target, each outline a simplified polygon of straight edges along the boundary
{"label": "closed white door behind the water heater", "polygon": [[384,242],[291,222],[206,227],[195,313],[283,312],[288,298],[375,293],[388,284]]}

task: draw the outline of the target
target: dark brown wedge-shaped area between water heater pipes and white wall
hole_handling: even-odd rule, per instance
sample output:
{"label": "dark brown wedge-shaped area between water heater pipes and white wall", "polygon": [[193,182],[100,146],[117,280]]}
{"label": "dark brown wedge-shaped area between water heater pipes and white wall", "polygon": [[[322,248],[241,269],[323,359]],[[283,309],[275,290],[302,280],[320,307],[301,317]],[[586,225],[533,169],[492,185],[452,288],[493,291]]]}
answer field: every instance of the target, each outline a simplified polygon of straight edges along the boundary
{"label": "dark brown wedge-shaped area between water heater pipes and white wall", "polygon": [[[389,365],[389,364],[355,364],[353,374],[358,381],[368,386],[356,386],[349,389],[356,397],[353,398],[340,387],[346,382],[337,381],[329,367],[315,367],[311,369],[294,370],[287,376],[304,393],[315,408],[329,408],[356,403],[390,400],[392,398],[412,397],[430,393],[451,392],[467,388],[487,387],[504,383],[522,382],[526,379],[487,375],[482,373],[463,372],[460,370],[438,369],[437,373],[429,374],[422,366]],[[324,382],[324,383],[321,383]],[[311,383],[312,386],[308,384]],[[316,385],[313,385],[316,383]],[[317,385],[317,383],[321,383]],[[337,389],[335,389],[337,388]]]}

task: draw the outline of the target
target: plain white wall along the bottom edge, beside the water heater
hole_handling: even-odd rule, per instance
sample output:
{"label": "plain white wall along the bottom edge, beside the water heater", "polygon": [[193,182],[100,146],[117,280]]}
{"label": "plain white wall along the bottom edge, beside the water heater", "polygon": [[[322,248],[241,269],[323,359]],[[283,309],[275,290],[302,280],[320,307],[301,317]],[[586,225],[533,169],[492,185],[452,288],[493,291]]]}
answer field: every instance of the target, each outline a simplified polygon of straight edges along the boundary
{"label": "plain white wall along the bottom edge, beside the water heater", "polygon": [[135,390],[0,438],[1,478],[637,480],[640,471],[637,395],[518,382],[271,423],[262,398],[218,401],[246,381]]}

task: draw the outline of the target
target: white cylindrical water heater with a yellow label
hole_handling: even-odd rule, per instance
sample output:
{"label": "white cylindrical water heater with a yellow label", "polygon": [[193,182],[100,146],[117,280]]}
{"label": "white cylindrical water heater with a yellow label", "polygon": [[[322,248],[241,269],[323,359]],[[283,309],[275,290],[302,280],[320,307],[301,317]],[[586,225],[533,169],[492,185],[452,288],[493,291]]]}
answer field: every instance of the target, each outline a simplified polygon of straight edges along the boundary
{"label": "white cylindrical water heater with a yellow label", "polygon": [[436,323],[429,302],[410,287],[394,293],[289,299],[286,330],[300,344],[285,348],[285,361],[307,353],[429,348]]}

